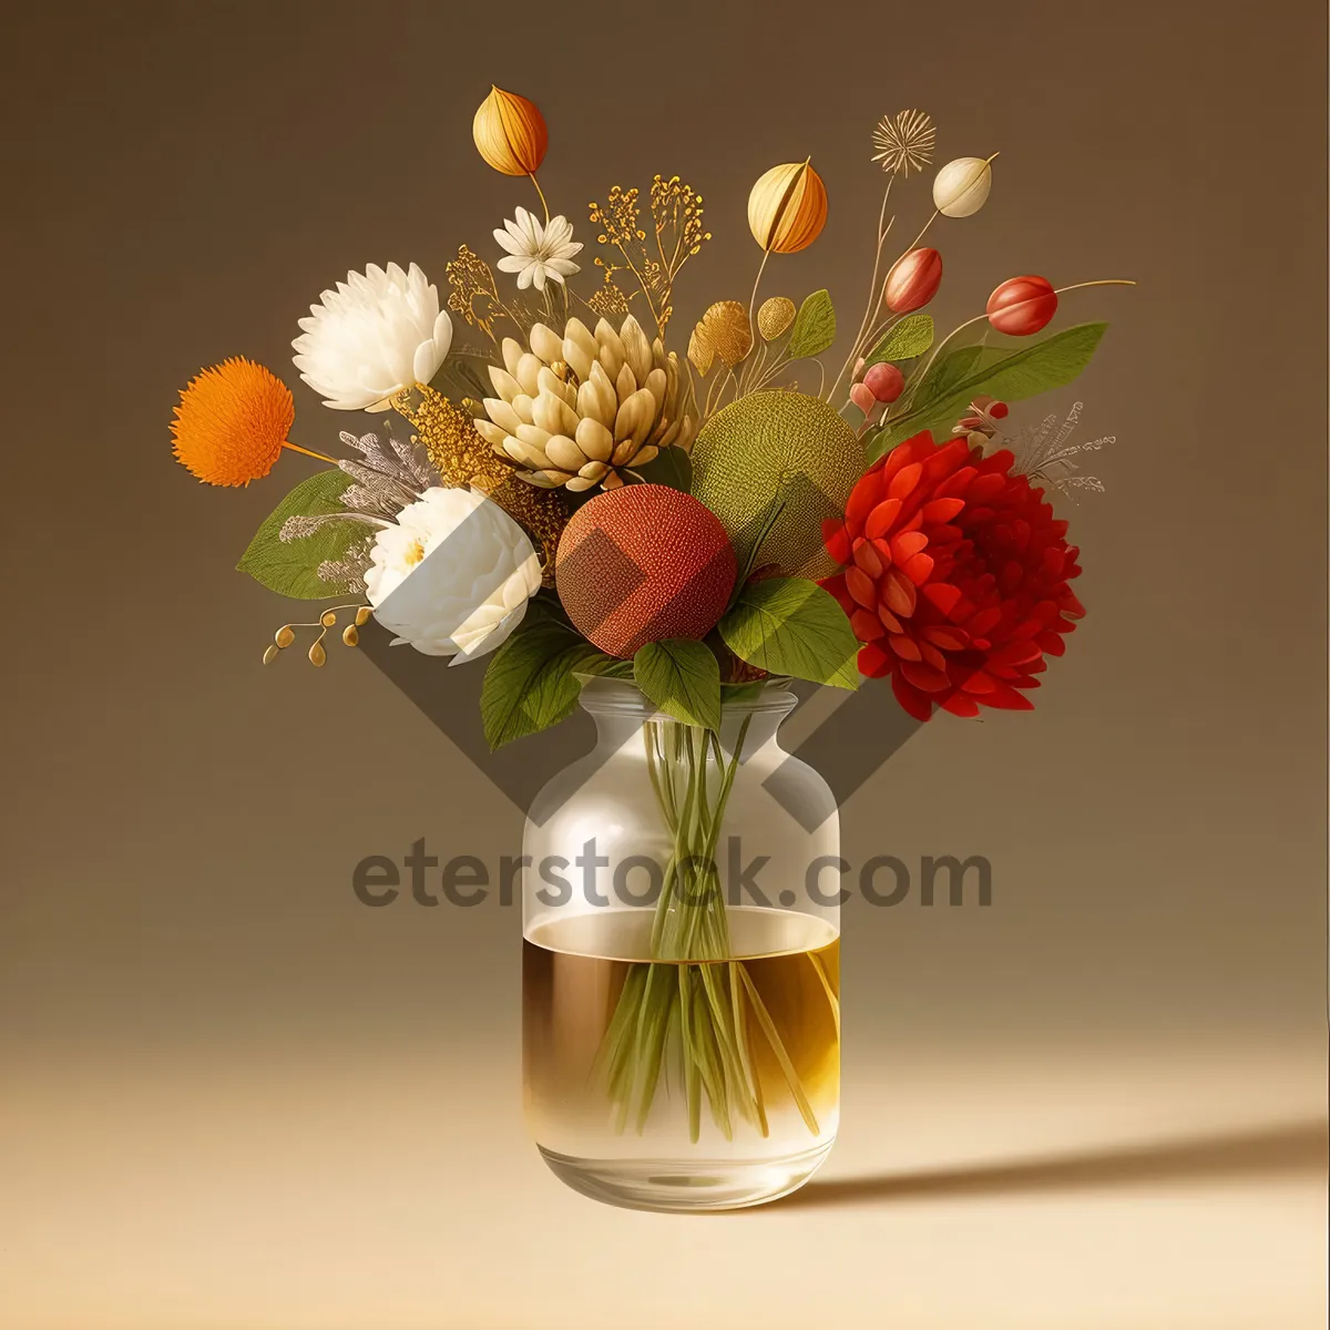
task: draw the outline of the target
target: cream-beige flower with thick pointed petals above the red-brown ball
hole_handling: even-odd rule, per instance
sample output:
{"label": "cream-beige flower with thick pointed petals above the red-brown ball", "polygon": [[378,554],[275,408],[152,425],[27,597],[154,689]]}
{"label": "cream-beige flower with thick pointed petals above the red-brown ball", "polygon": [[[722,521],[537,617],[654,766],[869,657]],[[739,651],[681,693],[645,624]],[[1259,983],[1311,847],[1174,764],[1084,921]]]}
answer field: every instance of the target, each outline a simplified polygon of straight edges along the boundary
{"label": "cream-beige flower with thick pointed petals above the red-brown ball", "polygon": [[629,467],[661,448],[685,452],[697,434],[692,386],[660,338],[646,340],[629,315],[616,331],[569,319],[560,338],[536,323],[529,347],[504,338],[504,368],[489,367],[495,396],[476,430],[517,463],[523,480],[548,489],[613,489]]}

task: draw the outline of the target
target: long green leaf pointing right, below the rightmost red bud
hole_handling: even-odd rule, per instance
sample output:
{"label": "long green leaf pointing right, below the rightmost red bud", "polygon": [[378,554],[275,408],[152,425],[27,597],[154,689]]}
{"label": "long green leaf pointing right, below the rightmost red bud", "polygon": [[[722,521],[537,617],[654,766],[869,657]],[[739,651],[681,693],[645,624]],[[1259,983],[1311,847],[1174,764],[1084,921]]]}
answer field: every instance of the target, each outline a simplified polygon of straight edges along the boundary
{"label": "long green leaf pointing right, below the rightmost red bud", "polygon": [[[1007,354],[1005,347],[962,347],[928,371],[915,396],[916,406],[887,422],[868,446],[876,460],[920,430],[951,426],[980,392],[1020,402],[1071,383],[1089,364],[1107,323],[1077,323],[1052,336]],[[963,356],[962,352],[970,352]]]}

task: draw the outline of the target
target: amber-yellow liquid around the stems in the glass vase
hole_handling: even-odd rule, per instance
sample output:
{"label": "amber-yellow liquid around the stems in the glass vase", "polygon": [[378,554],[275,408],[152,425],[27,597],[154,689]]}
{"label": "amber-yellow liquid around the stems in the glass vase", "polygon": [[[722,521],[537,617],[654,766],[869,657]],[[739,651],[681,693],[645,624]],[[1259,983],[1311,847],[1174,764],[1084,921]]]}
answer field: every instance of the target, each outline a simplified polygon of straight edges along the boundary
{"label": "amber-yellow liquid around the stems in the glass vase", "polygon": [[742,1037],[765,1133],[759,1120],[732,1108],[722,1113],[726,1138],[709,1103],[690,1125],[677,1037],[666,1040],[641,1130],[636,1112],[626,1121],[616,1112],[602,1075],[602,1043],[625,982],[645,963],[650,911],[606,910],[539,924],[523,942],[525,1103],[540,1145],[583,1158],[692,1153],[761,1160],[810,1150],[834,1137],[841,1099],[839,939],[825,920],[787,911],[735,910],[729,926],[733,955],[755,999],[728,960],[656,964],[689,972],[714,967],[708,979],[726,1011],[725,995],[738,983]]}

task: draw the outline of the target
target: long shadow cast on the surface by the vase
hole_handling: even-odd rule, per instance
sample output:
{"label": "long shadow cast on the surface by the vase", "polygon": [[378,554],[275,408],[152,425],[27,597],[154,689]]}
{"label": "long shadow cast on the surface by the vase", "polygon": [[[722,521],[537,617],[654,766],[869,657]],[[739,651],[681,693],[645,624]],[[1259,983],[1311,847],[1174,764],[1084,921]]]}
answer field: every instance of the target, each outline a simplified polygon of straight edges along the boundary
{"label": "long shadow cast on the surface by the vase", "polygon": [[1016,1196],[1093,1190],[1142,1182],[1222,1181],[1326,1169],[1323,1119],[1192,1140],[1154,1141],[1075,1154],[1048,1154],[992,1164],[878,1173],[811,1181],[777,1201],[779,1208],[854,1205],[920,1197]]}

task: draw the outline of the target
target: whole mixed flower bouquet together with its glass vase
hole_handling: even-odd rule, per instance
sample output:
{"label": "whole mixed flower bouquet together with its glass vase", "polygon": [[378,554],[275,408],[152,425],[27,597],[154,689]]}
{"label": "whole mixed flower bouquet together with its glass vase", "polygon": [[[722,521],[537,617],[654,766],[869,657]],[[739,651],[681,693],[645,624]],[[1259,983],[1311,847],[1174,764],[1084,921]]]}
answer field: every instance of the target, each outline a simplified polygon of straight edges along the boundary
{"label": "whole mixed flower bouquet together with its glass vase", "polygon": [[[176,456],[215,485],[266,476],[283,450],[325,464],[239,561],[319,602],[277,629],[266,664],[299,641],[322,666],[330,632],[355,646],[372,618],[395,645],[487,658],[493,747],[579,701],[597,717],[597,753],[528,822],[537,1138],[604,1198],[750,1204],[799,1185],[834,1137],[838,902],[738,903],[722,839],[738,826],[781,862],[835,855],[830,791],[775,743],[791,680],[890,678],[920,721],[1029,709],[1083,613],[1079,552],[1048,496],[1099,488],[1077,463],[1107,440],[1069,442],[1079,406],[1012,430],[1009,403],[1080,374],[1105,325],[1045,329],[1065,294],[1113,283],[1012,277],[939,336],[943,255],[924,242],[983,207],[996,153],[934,173],[918,234],[888,262],[894,190],[935,154],[932,122],[906,110],[872,134],[886,181],[843,362],[827,360],[826,290],[762,290],[826,225],[807,158],[758,178],[751,287],[722,291],[685,342],[676,279],[710,239],[693,186],[616,185],[579,241],[537,180],[548,134],[531,101],[492,89],[473,138],[532,189],[493,231],[496,262],[462,245],[443,303],[415,263],[370,265],[299,321],[301,378],[382,430],[343,431],[327,454],[294,443],[290,390],[231,359],[181,392]],[[762,805],[779,773],[793,834]],[[587,900],[556,918],[572,892],[549,890],[568,883],[547,864],[567,867],[553,851],[588,826],[613,842],[614,871],[592,851]],[[649,891],[625,892],[632,861]]]}

